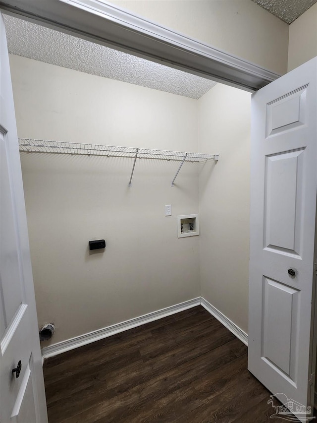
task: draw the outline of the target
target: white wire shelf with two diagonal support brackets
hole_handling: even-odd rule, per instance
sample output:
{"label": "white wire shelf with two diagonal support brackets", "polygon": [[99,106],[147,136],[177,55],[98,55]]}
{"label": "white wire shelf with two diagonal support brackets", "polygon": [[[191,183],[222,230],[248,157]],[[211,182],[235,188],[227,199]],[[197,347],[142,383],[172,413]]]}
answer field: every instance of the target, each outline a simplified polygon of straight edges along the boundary
{"label": "white wire shelf with two diagonal support brackets", "polygon": [[20,151],[37,153],[83,154],[86,156],[134,158],[129,186],[131,186],[131,181],[137,158],[181,161],[180,167],[178,168],[178,171],[173,181],[171,182],[171,186],[174,186],[174,181],[185,160],[191,162],[201,162],[206,160],[218,160],[219,157],[219,154],[189,153],[182,151],[154,150],[134,147],[117,147],[102,144],[49,141],[31,138],[19,138],[19,149]]}

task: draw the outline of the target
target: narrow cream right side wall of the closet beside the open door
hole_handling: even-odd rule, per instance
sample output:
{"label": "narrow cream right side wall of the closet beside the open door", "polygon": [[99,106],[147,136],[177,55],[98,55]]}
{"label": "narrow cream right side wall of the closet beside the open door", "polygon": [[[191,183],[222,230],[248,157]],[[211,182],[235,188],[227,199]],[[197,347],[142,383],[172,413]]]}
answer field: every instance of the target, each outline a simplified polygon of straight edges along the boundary
{"label": "narrow cream right side wall of the closet beside the open door", "polygon": [[199,103],[201,295],[248,332],[251,94],[217,84]]}

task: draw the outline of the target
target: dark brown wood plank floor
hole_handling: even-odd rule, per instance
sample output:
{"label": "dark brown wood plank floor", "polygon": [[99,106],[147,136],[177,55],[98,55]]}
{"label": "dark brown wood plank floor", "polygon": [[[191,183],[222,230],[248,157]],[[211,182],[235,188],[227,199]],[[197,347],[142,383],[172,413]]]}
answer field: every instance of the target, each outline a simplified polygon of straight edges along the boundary
{"label": "dark brown wood plank floor", "polygon": [[280,421],[247,347],[202,306],[48,359],[44,376],[50,423]]}

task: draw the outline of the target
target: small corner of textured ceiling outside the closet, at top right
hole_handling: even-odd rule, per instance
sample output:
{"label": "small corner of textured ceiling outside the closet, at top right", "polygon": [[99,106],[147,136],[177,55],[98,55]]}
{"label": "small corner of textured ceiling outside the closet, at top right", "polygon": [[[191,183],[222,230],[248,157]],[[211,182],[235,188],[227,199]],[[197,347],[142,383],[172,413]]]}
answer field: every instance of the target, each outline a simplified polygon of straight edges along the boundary
{"label": "small corner of textured ceiling outside the closet, at top right", "polygon": [[306,12],[317,0],[253,0],[265,10],[282,19],[286,23],[292,23],[302,13]]}

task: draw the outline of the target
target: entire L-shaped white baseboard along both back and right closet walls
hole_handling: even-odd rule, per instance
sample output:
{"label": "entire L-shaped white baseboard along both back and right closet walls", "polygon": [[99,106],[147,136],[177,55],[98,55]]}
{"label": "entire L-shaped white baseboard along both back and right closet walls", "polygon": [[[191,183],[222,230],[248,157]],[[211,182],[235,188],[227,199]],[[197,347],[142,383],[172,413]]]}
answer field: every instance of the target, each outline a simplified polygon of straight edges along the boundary
{"label": "entire L-shaped white baseboard along both back and right closet walls", "polygon": [[65,353],[66,351],[73,350],[83,345],[90,344],[91,342],[99,341],[100,339],[107,338],[108,336],[115,335],[125,330],[132,329],[137,326],[144,325],[154,320],[161,319],[171,314],[179,313],[180,311],[187,310],[188,308],[202,305],[212,316],[219,320],[223,326],[230,330],[240,341],[248,345],[248,335],[240,329],[235,323],[228,319],[221,311],[217,310],[210,302],[202,297],[194,298],[193,300],[181,302],[180,304],[172,305],[170,307],[162,308],[161,310],[148,313],[125,322],[117,323],[107,326],[93,332],[85,333],[84,335],[75,338],[67,339],[66,341],[58,342],[57,344],[50,345],[49,347],[42,348],[42,357],[47,359],[56,356],[57,354]]}

